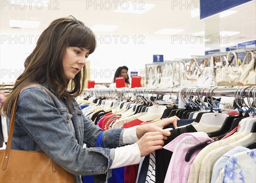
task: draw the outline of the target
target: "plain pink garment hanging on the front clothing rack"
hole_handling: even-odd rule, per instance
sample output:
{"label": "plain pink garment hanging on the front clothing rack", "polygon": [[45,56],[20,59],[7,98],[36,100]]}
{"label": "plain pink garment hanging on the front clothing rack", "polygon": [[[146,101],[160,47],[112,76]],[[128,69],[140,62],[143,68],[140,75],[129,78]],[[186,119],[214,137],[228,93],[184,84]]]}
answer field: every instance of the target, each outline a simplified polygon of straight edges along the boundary
{"label": "plain pink garment hanging on the front clothing rack", "polygon": [[166,173],[165,183],[187,183],[189,178],[190,166],[193,163],[196,155],[200,151],[196,151],[189,162],[185,161],[187,151],[195,145],[198,145],[207,140],[213,141],[204,132],[194,132],[181,134],[172,142],[169,142],[163,148],[172,151],[172,158]]}

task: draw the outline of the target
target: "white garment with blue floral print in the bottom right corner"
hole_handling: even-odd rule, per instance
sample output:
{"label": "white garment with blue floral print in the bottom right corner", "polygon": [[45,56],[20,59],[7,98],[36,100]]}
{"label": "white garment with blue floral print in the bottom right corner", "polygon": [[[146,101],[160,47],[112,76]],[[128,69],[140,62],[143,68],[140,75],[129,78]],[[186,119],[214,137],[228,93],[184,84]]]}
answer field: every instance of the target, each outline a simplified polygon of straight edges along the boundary
{"label": "white garment with blue floral print in the bottom right corner", "polygon": [[256,149],[234,154],[224,168],[223,183],[256,182]]}

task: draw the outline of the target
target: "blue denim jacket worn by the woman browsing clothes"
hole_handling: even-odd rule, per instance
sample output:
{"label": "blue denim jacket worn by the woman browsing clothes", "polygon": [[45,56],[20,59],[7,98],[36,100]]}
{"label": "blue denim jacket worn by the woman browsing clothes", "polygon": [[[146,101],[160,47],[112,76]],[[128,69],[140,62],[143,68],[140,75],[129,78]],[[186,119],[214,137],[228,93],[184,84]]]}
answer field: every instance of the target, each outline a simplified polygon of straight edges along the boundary
{"label": "blue denim jacket worn by the woman browsing clothes", "polygon": [[[44,84],[48,88],[47,84]],[[59,100],[48,90],[52,99],[38,85],[24,87],[18,98],[12,149],[23,151],[44,151],[55,163],[68,172],[80,175],[95,175],[96,183],[105,183],[111,177],[114,149],[123,144],[124,129],[104,131],[102,139],[105,148],[95,147],[102,132],[97,125],[86,118],[75,99],[67,108],[67,100]],[[8,118],[8,126],[9,126]],[[83,144],[87,148],[83,148]],[[46,175],[47,176],[47,175]]]}

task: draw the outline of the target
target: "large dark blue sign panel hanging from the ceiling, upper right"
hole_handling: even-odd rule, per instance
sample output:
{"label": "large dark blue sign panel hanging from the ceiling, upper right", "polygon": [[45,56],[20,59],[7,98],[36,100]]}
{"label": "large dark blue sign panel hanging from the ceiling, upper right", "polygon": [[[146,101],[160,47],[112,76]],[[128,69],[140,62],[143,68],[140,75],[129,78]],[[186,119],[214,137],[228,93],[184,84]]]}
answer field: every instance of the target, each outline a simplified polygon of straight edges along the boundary
{"label": "large dark blue sign panel hanging from the ceiling, upper right", "polygon": [[200,19],[215,15],[251,0],[200,0]]}

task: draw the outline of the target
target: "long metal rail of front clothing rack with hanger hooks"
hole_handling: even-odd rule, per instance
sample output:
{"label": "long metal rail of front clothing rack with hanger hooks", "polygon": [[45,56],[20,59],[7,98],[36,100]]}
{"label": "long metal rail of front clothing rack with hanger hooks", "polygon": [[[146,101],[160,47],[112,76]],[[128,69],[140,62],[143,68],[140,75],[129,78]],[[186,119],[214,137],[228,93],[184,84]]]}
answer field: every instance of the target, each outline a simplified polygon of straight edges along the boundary
{"label": "long metal rail of front clothing rack with hanger hooks", "polygon": [[[94,96],[101,94],[102,96],[118,97],[121,100],[125,95],[129,96],[148,96],[148,94],[154,95],[178,95],[180,96],[214,96],[214,97],[235,97],[235,98],[253,98],[254,104],[256,104],[256,86],[244,86],[244,87],[188,87],[183,88],[113,88],[113,89],[85,89],[85,92],[89,92]],[[184,98],[183,98],[184,99]],[[154,101],[152,101],[154,102]],[[188,102],[189,103],[189,102]],[[183,107],[184,102],[179,100],[179,106]]]}

